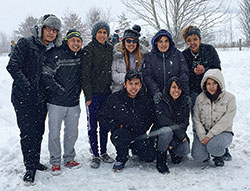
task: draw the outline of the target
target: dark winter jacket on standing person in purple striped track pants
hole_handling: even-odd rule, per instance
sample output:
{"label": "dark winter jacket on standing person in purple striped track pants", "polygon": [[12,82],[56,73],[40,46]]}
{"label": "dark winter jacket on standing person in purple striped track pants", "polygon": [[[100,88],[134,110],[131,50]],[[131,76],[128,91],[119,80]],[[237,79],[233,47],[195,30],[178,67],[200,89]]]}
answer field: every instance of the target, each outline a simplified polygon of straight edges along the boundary
{"label": "dark winter jacket on standing person in purple striped track pants", "polygon": [[100,44],[95,38],[83,48],[82,88],[86,101],[93,95],[110,94],[113,46]]}

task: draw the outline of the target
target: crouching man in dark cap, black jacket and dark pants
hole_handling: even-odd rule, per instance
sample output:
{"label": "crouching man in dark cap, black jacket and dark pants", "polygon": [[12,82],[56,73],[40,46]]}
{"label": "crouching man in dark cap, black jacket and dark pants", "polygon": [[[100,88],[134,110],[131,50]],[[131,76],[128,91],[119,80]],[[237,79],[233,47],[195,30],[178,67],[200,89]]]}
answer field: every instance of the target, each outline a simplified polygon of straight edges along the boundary
{"label": "crouching man in dark cap, black jacket and dark pants", "polygon": [[100,120],[111,130],[116,148],[114,172],[124,168],[129,149],[145,162],[154,161],[156,153],[154,138],[146,134],[154,122],[153,102],[142,88],[141,73],[129,70],[124,87],[108,97],[99,113]]}

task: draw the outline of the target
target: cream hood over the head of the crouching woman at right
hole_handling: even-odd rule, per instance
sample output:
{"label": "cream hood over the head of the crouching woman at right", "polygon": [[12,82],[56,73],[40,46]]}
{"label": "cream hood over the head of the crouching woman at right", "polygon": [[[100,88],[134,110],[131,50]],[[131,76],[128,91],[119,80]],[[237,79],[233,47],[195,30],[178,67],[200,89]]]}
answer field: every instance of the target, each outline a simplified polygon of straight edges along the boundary
{"label": "cream hood over the head of the crouching woman at right", "polygon": [[203,89],[203,85],[206,82],[206,80],[210,78],[215,80],[216,82],[218,82],[218,84],[220,85],[221,91],[223,92],[225,90],[225,81],[224,81],[224,77],[221,73],[221,71],[219,69],[210,69],[208,70],[202,80],[201,80],[201,89],[204,91]]}

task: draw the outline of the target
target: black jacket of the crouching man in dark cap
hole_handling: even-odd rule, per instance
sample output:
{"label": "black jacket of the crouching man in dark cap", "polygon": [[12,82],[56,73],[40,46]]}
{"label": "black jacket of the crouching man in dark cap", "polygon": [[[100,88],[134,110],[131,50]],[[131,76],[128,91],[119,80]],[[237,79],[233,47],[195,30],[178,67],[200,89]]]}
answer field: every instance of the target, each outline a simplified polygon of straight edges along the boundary
{"label": "black jacket of the crouching man in dark cap", "polygon": [[100,122],[114,132],[122,125],[134,137],[145,134],[154,122],[152,100],[141,89],[133,99],[126,89],[111,94],[99,113]]}

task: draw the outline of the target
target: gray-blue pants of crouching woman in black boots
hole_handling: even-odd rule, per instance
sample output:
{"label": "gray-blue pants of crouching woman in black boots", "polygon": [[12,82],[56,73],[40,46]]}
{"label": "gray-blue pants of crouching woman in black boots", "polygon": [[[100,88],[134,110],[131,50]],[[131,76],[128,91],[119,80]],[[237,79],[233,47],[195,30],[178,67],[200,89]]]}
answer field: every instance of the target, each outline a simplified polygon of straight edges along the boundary
{"label": "gray-blue pants of crouching woman in black boots", "polygon": [[[159,130],[157,150],[165,152],[168,150],[169,144],[173,140],[174,132],[170,127],[161,127]],[[180,143],[173,152],[178,156],[186,156],[190,152],[189,142]]]}

